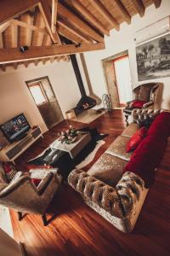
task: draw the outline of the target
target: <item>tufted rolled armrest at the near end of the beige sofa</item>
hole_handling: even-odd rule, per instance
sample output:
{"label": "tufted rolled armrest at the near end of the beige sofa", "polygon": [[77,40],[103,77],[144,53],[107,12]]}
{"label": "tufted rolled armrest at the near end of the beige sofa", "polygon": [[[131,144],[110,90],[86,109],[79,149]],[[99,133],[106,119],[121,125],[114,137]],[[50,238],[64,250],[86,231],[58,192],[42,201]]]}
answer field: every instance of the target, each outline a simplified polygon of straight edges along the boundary
{"label": "tufted rolled armrest at the near end of the beige sofa", "polygon": [[123,209],[120,204],[116,189],[99,181],[87,172],[74,170],[68,177],[68,183],[76,189],[85,200],[94,201],[99,207],[110,212],[117,218],[123,217]]}

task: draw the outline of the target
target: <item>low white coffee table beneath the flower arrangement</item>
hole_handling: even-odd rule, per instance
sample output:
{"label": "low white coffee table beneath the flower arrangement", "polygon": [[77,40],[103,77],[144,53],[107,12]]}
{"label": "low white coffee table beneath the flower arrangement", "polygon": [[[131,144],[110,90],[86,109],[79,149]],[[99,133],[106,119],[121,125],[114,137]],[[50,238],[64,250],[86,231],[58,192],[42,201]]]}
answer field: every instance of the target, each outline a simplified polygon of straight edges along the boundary
{"label": "low white coffee table beneath the flower arrangement", "polygon": [[85,148],[88,145],[91,139],[92,138],[89,132],[82,132],[80,135],[78,135],[77,141],[75,143],[60,143],[57,139],[54,141],[54,143],[50,144],[49,147],[68,152],[71,156],[71,159],[74,159],[77,154],[80,153],[82,148]]}

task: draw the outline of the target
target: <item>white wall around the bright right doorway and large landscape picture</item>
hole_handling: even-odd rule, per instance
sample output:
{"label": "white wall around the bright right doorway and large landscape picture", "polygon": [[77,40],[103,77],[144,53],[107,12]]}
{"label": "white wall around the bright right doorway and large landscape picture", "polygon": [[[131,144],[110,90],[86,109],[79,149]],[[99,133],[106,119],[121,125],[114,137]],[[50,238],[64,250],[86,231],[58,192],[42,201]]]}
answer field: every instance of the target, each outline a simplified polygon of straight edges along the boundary
{"label": "white wall around the bright right doorway and large landscape picture", "polygon": [[[111,55],[116,55],[124,50],[128,50],[129,54],[133,88],[138,84],[147,82],[138,82],[135,44],[133,40],[134,34],[145,26],[149,26],[168,15],[170,15],[170,0],[162,0],[161,7],[159,9],[156,9],[155,5],[152,4],[145,10],[144,17],[141,18],[139,15],[135,15],[132,19],[131,25],[123,23],[119,32],[116,32],[116,30],[111,31],[111,36],[105,37],[106,49],[84,54],[88,67],[89,78],[93,84],[95,95],[101,98],[101,96],[107,92],[101,60]],[[160,81],[164,84],[161,107],[170,108],[170,77],[150,81]]]}

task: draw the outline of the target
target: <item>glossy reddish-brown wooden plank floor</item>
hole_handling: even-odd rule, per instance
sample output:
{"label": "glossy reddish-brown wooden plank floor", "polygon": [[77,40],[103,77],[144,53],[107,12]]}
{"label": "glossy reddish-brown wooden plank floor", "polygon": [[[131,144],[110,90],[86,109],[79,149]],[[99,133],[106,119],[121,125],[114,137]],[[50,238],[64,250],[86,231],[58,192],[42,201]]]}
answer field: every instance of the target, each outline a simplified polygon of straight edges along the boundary
{"label": "glossy reddish-brown wooden plank floor", "polygon": [[[39,140],[28,149],[17,161],[20,169],[26,171],[26,160],[47,148],[48,144],[54,141],[57,131],[70,123],[65,121],[55,126],[44,135],[43,140]],[[77,128],[84,126],[76,122],[74,125]],[[99,148],[96,160],[125,128],[122,110],[105,113],[90,126],[98,127],[100,132],[110,134],[105,138],[105,145]],[[144,201],[144,207],[132,234],[123,234],[116,230],[98,213],[87,207],[77,192],[64,184],[51,203],[51,213],[48,215],[51,222],[47,227],[43,227],[40,216],[29,214],[19,222],[16,213],[11,211],[14,237],[24,242],[26,253],[30,256],[170,255],[169,155],[170,152],[167,151],[161,167],[157,169],[156,182]],[[89,166],[86,169],[88,168]]]}

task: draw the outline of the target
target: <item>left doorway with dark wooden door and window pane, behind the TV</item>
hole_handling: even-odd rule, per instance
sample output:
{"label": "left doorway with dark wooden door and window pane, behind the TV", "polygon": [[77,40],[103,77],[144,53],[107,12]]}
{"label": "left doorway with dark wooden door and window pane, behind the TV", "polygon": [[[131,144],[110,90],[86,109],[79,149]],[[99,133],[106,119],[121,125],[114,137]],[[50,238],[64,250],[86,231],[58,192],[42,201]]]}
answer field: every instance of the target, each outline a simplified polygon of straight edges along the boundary
{"label": "left doorway with dark wooden door and window pane, behind the TV", "polygon": [[64,120],[48,77],[26,81],[26,84],[48,129]]}

